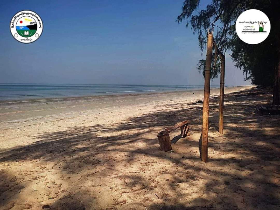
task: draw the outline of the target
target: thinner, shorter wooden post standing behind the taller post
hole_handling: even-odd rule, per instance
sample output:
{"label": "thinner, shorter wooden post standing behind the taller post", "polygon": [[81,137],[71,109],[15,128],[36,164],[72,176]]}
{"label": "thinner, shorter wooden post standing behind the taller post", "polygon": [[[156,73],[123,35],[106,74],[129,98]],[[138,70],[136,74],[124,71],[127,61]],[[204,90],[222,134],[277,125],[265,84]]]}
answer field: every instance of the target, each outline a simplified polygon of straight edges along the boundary
{"label": "thinner, shorter wooden post standing behind the taller post", "polygon": [[225,56],[221,57],[219,133],[224,132]]}

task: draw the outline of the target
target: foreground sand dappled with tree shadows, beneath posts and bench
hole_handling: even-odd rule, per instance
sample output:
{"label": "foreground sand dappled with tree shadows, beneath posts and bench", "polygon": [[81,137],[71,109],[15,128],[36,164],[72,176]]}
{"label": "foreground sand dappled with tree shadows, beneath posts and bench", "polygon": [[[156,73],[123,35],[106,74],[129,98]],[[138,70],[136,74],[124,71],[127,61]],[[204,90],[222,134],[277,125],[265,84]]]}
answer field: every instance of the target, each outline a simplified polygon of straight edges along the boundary
{"label": "foreground sand dappled with tree shadows, beneath posts and bench", "polygon": [[[219,99],[211,98],[208,163],[199,157],[202,104],[38,135],[0,154],[1,164],[11,164],[1,171],[1,206],[28,187],[25,176],[12,175],[13,163],[39,160],[48,167],[42,181],[55,173],[66,185],[56,193],[50,187],[50,209],[279,209],[279,116],[254,114],[256,103],[271,100],[265,91],[225,96],[224,135],[216,131]],[[160,152],[157,132],[186,119],[191,136],[173,139],[173,153]]]}

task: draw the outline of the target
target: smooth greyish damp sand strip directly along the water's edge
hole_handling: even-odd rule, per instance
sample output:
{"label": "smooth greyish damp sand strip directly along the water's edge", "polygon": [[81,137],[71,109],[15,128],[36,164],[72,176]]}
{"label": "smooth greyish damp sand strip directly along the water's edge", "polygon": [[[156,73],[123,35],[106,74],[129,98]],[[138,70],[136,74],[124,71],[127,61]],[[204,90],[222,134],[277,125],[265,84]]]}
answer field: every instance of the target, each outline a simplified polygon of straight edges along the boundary
{"label": "smooth greyish damp sand strip directly along the water's edge", "polygon": [[[253,86],[227,87],[225,94],[252,88]],[[193,96],[193,93],[194,96]],[[211,89],[210,97],[220,94],[220,88]],[[192,103],[203,100],[204,90],[176,91],[164,93],[125,94],[110,96],[86,96],[55,99],[37,99],[13,102],[0,102],[0,125],[7,127],[11,122],[32,122],[36,119],[76,117],[79,115],[98,115],[103,112],[118,112],[131,107]],[[172,102],[173,101],[173,102]]]}

